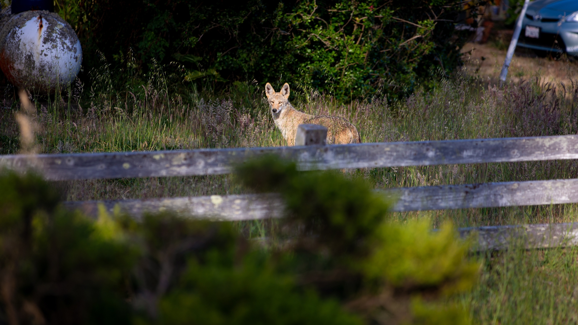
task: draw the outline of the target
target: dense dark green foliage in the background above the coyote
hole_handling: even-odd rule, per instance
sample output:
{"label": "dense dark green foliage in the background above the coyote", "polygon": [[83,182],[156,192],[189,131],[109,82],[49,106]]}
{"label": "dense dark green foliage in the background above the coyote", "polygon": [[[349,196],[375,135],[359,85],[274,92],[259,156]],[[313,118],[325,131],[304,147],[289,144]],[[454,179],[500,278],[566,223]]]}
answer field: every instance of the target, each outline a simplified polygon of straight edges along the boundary
{"label": "dense dark green foliage in the background above the coyote", "polygon": [[453,69],[464,41],[454,34],[453,0],[56,3],[88,68],[101,51],[144,69],[177,61],[190,82],[289,82],[342,99],[406,94],[420,77]]}

